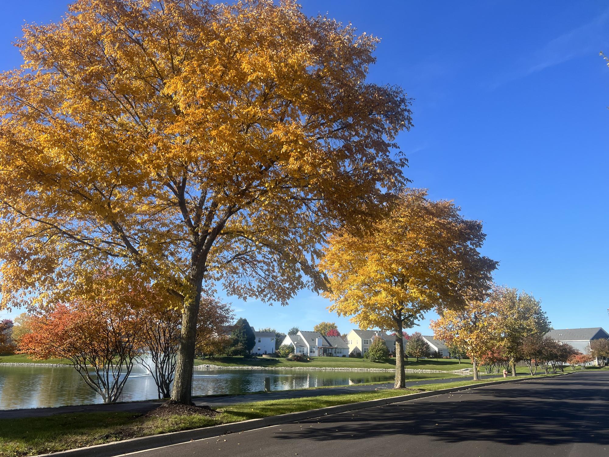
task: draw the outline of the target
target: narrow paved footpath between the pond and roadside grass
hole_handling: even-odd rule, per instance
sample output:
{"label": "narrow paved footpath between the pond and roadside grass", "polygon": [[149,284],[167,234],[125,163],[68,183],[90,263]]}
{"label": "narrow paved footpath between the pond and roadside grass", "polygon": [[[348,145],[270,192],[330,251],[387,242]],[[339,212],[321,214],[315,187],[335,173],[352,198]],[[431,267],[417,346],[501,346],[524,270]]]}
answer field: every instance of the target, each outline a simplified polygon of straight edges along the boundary
{"label": "narrow paved footpath between the pond and roadside grass", "polygon": [[[484,375],[481,378],[496,378],[498,374]],[[406,375],[406,378],[408,375]],[[406,387],[416,387],[422,384],[442,384],[455,381],[471,380],[470,377],[458,376],[445,379],[422,379],[418,381],[407,381]],[[383,384],[353,384],[351,386],[329,387],[323,389],[300,389],[294,391],[274,391],[267,394],[245,394],[230,395],[227,397],[195,397],[192,401],[196,405],[209,405],[212,408],[220,406],[235,405],[236,403],[261,402],[263,400],[300,399],[302,397],[315,397],[317,395],[348,394],[350,392],[370,392],[375,389],[391,389],[393,383]],[[147,413],[160,405],[158,400],[144,402],[115,403],[114,405],[74,405],[58,406],[57,408],[23,408],[23,409],[0,409],[0,419],[17,419],[18,417],[44,417],[54,414],[66,413],[98,413],[102,411],[120,411],[130,413]]]}

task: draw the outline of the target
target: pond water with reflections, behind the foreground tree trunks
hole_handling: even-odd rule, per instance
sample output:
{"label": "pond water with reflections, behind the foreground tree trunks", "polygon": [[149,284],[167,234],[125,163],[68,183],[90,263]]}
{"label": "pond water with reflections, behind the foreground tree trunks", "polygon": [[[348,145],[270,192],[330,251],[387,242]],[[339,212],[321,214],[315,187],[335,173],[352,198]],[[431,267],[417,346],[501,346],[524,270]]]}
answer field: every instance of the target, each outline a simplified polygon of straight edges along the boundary
{"label": "pond water with reflections, behind the foreground tree trunks", "polygon": [[[193,395],[242,394],[264,390],[270,378],[271,390],[340,386],[393,381],[390,372],[348,372],[322,370],[195,370]],[[152,376],[141,366],[133,367],[119,401],[157,398]],[[102,403],[102,399],[69,366],[10,366],[0,364],[0,409]]]}

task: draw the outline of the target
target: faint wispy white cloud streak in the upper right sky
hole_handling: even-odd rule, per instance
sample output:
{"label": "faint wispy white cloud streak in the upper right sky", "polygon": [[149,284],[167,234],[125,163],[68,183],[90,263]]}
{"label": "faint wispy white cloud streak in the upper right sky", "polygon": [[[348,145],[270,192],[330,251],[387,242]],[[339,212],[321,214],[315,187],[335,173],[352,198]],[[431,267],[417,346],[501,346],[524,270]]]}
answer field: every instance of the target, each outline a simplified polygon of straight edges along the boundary
{"label": "faint wispy white cloud streak in the upper right sky", "polygon": [[600,46],[607,43],[608,21],[609,9],[592,21],[554,38],[542,48],[524,57],[521,62],[516,63],[515,69],[499,76],[495,82],[491,83],[490,89],[496,89],[506,83],[560,65],[581,55],[598,54],[602,50]]}

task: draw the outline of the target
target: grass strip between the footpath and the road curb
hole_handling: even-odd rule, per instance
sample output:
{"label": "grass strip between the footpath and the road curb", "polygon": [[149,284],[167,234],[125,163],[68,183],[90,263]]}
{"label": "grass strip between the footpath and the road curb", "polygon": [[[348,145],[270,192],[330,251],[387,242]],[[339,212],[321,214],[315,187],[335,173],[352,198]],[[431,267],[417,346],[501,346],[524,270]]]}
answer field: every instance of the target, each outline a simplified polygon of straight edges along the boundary
{"label": "grass strip between the footpath and the road curb", "polygon": [[[545,377],[537,375],[535,378]],[[503,377],[491,380],[502,380]],[[523,379],[526,379],[523,377]],[[488,382],[484,380],[483,382]],[[417,386],[417,389],[383,389],[375,392],[354,392],[342,395],[319,395],[303,399],[269,400],[242,403],[219,408],[219,416],[170,416],[150,418],[133,413],[74,413],[50,417],[0,420],[0,456],[21,457],[46,452],[58,452],[122,439],[169,433],[178,430],[210,427],[223,423],[276,414],[295,413],[326,406],[345,405],[420,391],[435,391],[469,386],[481,381],[457,381],[446,384]]]}

